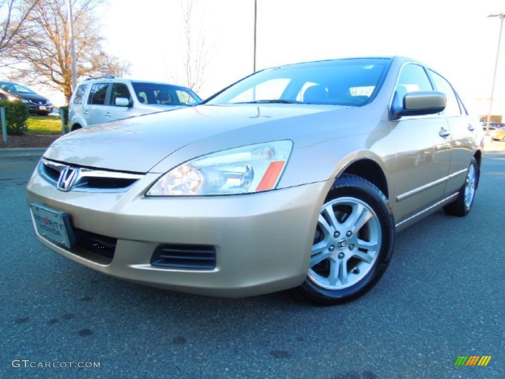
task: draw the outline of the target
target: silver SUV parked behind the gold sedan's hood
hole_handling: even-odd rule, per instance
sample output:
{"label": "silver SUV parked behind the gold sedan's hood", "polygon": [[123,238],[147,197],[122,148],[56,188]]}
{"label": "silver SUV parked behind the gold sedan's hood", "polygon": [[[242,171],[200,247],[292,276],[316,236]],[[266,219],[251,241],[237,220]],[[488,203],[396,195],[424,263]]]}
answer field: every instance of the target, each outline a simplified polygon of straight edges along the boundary
{"label": "silver SUV parked behind the gold sedan's hood", "polygon": [[70,128],[76,130],[200,102],[196,93],[180,85],[114,76],[86,79],[70,99]]}

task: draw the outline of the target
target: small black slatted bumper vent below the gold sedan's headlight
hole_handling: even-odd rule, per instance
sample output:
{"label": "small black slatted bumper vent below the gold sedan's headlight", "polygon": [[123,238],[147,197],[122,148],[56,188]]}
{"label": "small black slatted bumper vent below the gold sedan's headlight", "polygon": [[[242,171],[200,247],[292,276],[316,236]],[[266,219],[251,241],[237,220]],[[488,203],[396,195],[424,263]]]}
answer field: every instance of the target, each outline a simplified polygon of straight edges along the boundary
{"label": "small black slatted bumper vent below the gold sedan's headlight", "polygon": [[216,268],[216,248],[209,245],[160,245],[150,263],[166,268],[212,270]]}

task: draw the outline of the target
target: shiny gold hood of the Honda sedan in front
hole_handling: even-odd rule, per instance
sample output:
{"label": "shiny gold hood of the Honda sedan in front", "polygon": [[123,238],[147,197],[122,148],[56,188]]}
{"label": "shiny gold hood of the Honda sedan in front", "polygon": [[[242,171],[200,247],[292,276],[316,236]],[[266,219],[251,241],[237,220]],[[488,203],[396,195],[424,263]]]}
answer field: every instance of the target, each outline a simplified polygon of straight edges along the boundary
{"label": "shiny gold hood of the Honda sedan in front", "polygon": [[[258,141],[277,139],[275,133],[270,137],[265,135],[261,126],[268,123],[268,130],[275,130],[276,123],[286,124],[283,120],[288,118],[340,108],[344,107],[196,106],[73,131],[56,140],[44,157],[80,166],[147,172],[167,156],[195,141],[200,142],[197,144],[199,148],[193,149],[192,155],[185,159],[255,143],[255,138]],[[259,129],[263,131],[260,133]],[[281,138],[289,136],[283,133]]]}

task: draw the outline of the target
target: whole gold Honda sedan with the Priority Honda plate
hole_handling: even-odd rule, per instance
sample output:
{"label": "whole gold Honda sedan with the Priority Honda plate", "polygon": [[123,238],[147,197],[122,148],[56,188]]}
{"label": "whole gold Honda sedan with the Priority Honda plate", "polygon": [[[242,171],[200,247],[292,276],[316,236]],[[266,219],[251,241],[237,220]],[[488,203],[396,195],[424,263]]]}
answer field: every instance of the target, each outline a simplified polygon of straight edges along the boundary
{"label": "whole gold Honda sedan with the Priority Honda plate", "polygon": [[36,238],[97,271],[337,304],[377,282],[396,231],[440,208],[470,211],[482,148],[458,93],[419,62],[308,62],[189,109],[67,134],[27,198]]}

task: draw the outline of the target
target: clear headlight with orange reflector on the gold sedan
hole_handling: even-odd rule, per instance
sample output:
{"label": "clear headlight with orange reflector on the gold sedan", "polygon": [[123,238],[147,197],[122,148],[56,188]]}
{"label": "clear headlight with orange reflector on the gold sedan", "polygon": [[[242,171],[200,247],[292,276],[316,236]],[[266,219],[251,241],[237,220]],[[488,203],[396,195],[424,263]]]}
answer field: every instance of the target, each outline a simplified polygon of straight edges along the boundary
{"label": "clear headlight with orange reflector on the gold sedan", "polygon": [[282,140],[193,159],[160,177],[146,196],[232,195],[274,189],[292,147],[290,140]]}

